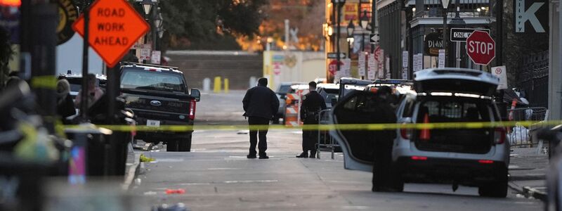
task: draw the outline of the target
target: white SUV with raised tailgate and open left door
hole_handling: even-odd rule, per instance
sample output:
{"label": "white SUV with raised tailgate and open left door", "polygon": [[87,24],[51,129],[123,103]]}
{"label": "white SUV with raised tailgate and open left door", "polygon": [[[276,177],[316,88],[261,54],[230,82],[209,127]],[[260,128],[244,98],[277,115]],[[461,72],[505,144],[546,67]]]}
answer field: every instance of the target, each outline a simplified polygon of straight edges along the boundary
{"label": "white SUV with raised tailgate and open left door", "polygon": [[[406,94],[396,115],[398,123],[500,122],[492,99],[499,80],[468,69],[415,72],[414,91]],[[372,94],[355,91],[332,108],[333,124],[368,122]],[[368,131],[330,133],[344,151],[346,169],[372,171],[374,139]],[[507,196],[509,141],[506,129],[397,129],[392,165],[398,191],[404,183],[448,183],[476,186],[481,196]],[[376,172],[375,172],[376,173]]]}

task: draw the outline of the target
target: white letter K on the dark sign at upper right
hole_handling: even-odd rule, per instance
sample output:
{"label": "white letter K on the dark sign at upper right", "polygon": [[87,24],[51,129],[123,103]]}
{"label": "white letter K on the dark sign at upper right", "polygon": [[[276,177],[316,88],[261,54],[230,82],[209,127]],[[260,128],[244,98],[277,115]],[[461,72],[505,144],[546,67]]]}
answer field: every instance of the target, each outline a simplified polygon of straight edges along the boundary
{"label": "white letter K on the dark sign at upper right", "polygon": [[544,27],[537,18],[537,11],[544,5],[544,2],[534,2],[525,11],[526,0],[516,0],[515,2],[515,32],[525,32],[525,23],[529,21],[537,33],[544,33]]}

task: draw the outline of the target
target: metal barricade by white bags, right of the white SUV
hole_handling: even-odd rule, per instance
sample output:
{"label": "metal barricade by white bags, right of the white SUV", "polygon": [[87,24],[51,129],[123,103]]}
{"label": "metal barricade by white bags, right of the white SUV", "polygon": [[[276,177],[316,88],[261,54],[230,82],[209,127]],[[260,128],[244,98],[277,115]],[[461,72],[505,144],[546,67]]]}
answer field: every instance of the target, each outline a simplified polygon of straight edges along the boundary
{"label": "metal barricade by white bags, right of the white SUV", "polygon": [[[548,117],[548,109],[544,107],[531,107],[531,108],[515,108],[507,110],[509,120],[515,122],[521,121],[545,121]],[[516,124],[515,127],[509,129],[509,141],[511,147],[517,148],[532,148],[537,145],[541,145],[536,136],[533,136],[537,129],[540,129],[538,125],[530,125],[530,127],[524,127],[523,125]]]}

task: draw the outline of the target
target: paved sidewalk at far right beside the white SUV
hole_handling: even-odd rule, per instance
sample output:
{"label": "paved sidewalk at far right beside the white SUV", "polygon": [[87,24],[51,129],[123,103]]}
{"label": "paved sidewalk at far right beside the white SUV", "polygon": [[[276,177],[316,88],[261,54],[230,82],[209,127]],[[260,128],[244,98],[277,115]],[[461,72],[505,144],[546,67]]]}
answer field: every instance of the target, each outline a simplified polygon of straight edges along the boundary
{"label": "paved sidewalk at far right beside the white SUV", "polygon": [[545,175],[548,155],[537,154],[536,148],[513,148],[509,165],[509,187],[525,197],[546,198]]}

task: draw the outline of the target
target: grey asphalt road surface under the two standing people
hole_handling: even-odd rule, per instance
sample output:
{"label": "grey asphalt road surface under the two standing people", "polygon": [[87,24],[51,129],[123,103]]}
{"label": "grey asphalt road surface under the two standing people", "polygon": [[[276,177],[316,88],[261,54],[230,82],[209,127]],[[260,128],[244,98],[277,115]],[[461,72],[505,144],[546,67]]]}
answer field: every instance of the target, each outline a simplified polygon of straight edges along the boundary
{"label": "grey asphalt road surface under the two standing people", "polygon": [[[231,98],[226,103],[241,102],[240,93]],[[201,115],[207,122],[221,122],[220,115],[211,114],[213,109],[204,110],[209,112]],[[226,119],[237,120],[235,115]],[[185,203],[190,210],[542,209],[540,200],[521,198],[511,190],[508,198],[499,199],[482,198],[477,188],[460,186],[453,192],[450,185],[436,184],[406,184],[404,193],[373,193],[372,174],[344,170],[341,153],[335,160],[327,152],[322,159],[294,158],[301,150],[301,132],[296,130],[269,132],[269,160],[245,158],[248,146],[244,131],[209,130],[193,134],[190,153],[145,151],[156,161],[145,163],[141,182],[131,192],[147,207]],[[166,189],[177,188],[185,193],[166,194]]]}

